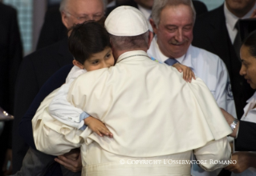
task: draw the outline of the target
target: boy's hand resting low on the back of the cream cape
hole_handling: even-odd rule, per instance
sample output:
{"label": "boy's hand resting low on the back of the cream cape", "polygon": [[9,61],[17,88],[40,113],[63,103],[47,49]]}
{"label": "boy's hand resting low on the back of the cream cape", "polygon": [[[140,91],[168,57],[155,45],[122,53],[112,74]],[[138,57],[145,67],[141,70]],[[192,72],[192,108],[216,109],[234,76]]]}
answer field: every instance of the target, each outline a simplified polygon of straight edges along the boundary
{"label": "boy's hand resting low on the back of the cream cape", "polygon": [[104,123],[96,118],[92,118],[92,117],[85,118],[84,124],[101,137],[106,135],[109,138],[113,138],[113,134],[108,130],[108,128],[104,125]]}

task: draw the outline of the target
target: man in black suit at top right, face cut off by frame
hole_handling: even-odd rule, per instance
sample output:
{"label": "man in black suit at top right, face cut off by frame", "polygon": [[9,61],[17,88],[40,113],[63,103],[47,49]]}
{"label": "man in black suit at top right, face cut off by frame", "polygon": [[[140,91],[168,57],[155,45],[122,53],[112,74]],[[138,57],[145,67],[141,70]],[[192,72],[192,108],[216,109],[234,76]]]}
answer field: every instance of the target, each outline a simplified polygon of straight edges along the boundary
{"label": "man in black suit at top right, face cut off by frame", "polygon": [[[246,100],[251,97],[253,90],[239,74],[241,61],[238,58],[241,41],[236,37],[235,29],[239,18],[248,18],[256,7],[256,1],[226,0],[225,4],[207,14],[197,18],[193,29],[193,46],[197,46],[217,54],[227,66],[230,82],[237,110],[237,117],[241,118],[242,108]],[[229,86],[227,85],[227,91]]]}

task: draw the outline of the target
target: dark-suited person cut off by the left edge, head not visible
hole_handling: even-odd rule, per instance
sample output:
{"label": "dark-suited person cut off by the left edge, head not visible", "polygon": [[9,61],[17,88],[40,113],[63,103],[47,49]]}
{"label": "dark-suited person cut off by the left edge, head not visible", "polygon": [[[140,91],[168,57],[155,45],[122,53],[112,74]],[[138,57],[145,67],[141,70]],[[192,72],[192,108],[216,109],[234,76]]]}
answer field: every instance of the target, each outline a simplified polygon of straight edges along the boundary
{"label": "dark-suited person cut off by the left edge, head not visible", "polygon": [[[14,85],[21,62],[22,42],[18,30],[17,12],[0,2],[0,106],[10,114],[14,114]],[[4,130],[0,135],[0,168],[6,156],[9,156],[6,155],[6,151],[7,154],[11,154],[11,126],[12,122],[5,122]]]}

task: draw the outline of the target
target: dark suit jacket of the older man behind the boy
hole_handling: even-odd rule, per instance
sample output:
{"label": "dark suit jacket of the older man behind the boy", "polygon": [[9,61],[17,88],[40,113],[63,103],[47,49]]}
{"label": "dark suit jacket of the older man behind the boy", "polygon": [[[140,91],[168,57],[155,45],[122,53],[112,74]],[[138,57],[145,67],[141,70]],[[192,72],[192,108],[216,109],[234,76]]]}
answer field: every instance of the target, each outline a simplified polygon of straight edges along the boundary
{"label": "dark suit jacket of the older man behind the boy", "polygon": [[13,172],[22,166],[28,146],[19,137],[18,125],[43,83],[62,66],[71,64],[73,57],[67,48],[67,38],[26,56],[18,71],[15,87],[13,128]]}

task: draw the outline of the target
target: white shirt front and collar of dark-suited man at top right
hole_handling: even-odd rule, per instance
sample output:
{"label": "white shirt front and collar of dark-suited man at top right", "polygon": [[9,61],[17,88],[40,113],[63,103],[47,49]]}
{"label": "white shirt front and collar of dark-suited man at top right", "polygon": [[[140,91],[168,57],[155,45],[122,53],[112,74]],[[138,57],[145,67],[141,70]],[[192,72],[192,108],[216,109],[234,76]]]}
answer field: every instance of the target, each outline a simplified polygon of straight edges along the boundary
{"label": "white shirt front and collar of dark-suited man at top right", "polygon": [[[256,3],[254,4],[254,7],[241,19],[250,18],[250,15],[253,13],[254,9],[256,9]],[[234,39],[238,34],[238,30],[235,28],[235,25],[238,22],[239,18],[232,14],[230,10],[228,10],[226,2],[224,4],[224,15],[226,18],[226,28],[228,29],[228,32],[230,34],[231,42],[232,44],[234,44]]]}

